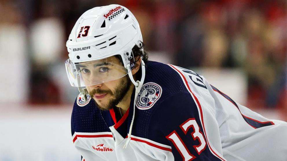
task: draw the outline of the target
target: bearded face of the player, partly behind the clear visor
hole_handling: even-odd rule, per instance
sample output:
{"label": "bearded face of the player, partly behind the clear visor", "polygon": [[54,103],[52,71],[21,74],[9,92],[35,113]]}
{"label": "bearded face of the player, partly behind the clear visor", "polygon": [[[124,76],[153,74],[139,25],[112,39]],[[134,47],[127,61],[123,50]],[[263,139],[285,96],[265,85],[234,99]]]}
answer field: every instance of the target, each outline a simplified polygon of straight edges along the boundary
{"label": "bearded face of the player, partly behind the clear visor", "polygon": [[[87,86],[90,96],[101,110],[110,110],[121,102],[131,86],[126,69],[116,57],[109,57],[101,61],[86,63],[80,66],[85,84],[113,80],[97,85]],[[112,78],[111,78],[112,77]]]}

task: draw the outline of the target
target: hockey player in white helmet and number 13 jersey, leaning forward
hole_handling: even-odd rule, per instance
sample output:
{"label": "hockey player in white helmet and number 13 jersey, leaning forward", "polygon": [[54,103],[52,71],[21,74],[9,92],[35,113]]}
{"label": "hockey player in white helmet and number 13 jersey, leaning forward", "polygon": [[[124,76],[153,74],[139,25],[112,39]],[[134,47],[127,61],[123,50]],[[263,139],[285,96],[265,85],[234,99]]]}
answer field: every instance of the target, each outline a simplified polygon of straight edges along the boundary
{"label": "hockey player in white helmet and number 13 jersey, leaning forward", "polygon": [[286,161],[287,124],[238,104],[207,80],[147,60],[139,24],[124,6],[88,10],[65,62],[78,95],[72,138],[82,160]]}

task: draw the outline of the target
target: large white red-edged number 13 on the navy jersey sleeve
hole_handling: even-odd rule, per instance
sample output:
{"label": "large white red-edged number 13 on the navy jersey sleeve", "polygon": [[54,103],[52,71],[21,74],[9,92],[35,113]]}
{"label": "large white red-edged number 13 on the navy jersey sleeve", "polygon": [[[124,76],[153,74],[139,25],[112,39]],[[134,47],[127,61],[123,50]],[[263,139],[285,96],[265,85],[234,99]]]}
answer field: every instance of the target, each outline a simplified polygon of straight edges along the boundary
{"label": "large white red-edged number 13 on the navy jersey sleeve", "polygon": [[[198,140],[199,145],[193,145],[194,149],[200,155],[202,151],[204,151],[206,147],[206,141],[203,136],[203,133],[200,131],[198,124],[194,118],[187,119],[184,123],[180,125],[181,130],[186,135],[190,128],[193,128],[193,132],[190,133],[193,140]],[[179,134],[174,130],[168,136],[166,136],[168,140],[170,140],[173,145],[176,147],[177,151],[180,153],[184,161],[190,161],[196,158],[196,156],[192,155],[188,150],[185,143],[182,141]]]}

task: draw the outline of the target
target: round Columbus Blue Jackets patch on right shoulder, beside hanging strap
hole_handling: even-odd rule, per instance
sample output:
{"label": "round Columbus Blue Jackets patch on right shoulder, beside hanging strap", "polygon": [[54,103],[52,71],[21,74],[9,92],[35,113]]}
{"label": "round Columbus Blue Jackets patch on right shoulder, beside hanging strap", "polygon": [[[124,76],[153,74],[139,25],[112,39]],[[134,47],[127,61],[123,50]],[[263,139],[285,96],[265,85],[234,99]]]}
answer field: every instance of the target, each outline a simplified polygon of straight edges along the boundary
{"label": "round Columbus Blue Jackets patch on right shoulder, beside hanging strap", "polygon": [[147,110],[161,97],[162,88],[157,83],[146,83],[141,87],[137,96],[136,105],[141,110]]}

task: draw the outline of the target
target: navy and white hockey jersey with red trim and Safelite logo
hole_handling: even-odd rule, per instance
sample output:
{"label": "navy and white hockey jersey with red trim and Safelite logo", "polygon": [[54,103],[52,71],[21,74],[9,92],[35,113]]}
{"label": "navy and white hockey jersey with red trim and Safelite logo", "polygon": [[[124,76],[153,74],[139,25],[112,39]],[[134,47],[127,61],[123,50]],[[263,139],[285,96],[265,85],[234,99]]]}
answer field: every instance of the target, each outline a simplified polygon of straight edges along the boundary
{"label": "navy and white hockey jersey with red trim and Safelite logo", "polygon": [[286,122],[241,106],[191,70],[153,61],[122,118],[79,95],[71,130],[86,161],[287,160]]}

